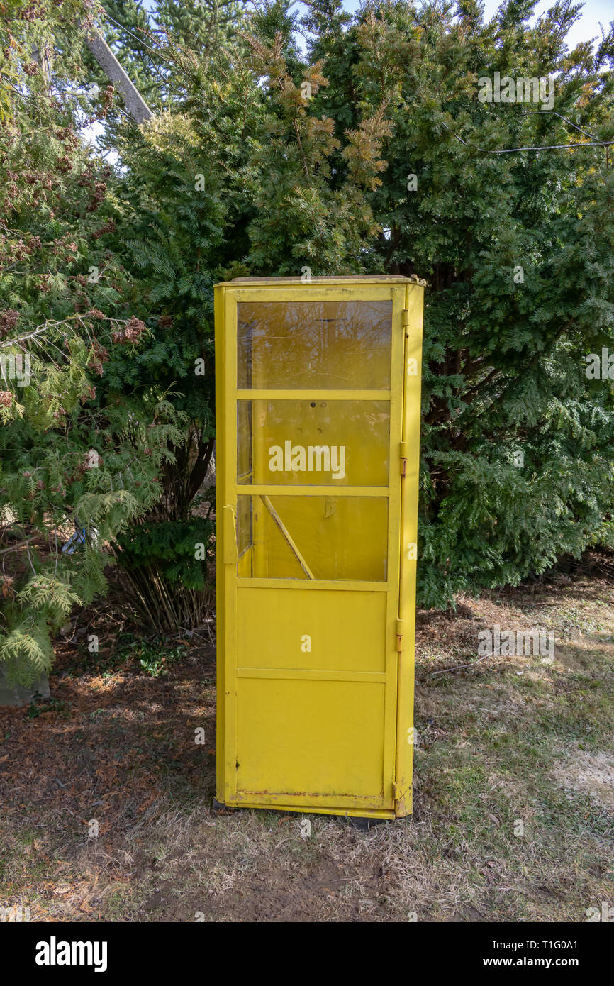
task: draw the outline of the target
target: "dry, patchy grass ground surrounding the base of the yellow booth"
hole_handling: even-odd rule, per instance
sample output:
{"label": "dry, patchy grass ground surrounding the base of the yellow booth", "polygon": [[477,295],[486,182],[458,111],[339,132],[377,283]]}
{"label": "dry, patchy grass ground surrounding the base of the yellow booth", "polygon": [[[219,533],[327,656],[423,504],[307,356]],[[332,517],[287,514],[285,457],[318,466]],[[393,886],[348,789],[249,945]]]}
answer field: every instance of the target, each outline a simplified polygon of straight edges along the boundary
{"label": "dry, patchy grass ground surrounding the base of the yellow booth", "polygon": [[[311,815],[303,838],[301,815],[212,812],[210,654],[155,679],[69,669],[60,712],[0,717],[0,769],[20,769],[2,902],[47,921],[583,921],[611,906],[614,587],[567,583],[422,614],[415,813],[369,831]],[[554,663],[433,673],[474,664],[494,624],[554,632]]]}

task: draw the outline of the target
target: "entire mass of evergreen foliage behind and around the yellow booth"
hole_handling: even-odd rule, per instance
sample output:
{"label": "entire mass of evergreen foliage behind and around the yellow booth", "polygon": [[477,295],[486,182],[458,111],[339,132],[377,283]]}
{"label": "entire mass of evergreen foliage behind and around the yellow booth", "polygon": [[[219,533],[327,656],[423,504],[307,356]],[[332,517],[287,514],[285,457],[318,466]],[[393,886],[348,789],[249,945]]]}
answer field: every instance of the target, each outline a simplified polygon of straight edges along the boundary
{"label": "entire mass of evergreen foliage behind and around the yellow booth", "polygon": [[[422,604],[614,546],[612,382],[584,373],[614,349],[612,31],[570,50],[567,0],[534,27],[515,0],[490,24],[474,0],[0,6],[0,352],[32,375],[0,390],[16,674],[48,668],[113,557],[156,632],[209,611],[212,288],[239,274],[427,279]],[[495,72],[555,79],[556,111],[481,102]],[[62,553],[73,521],[86,544]]]}

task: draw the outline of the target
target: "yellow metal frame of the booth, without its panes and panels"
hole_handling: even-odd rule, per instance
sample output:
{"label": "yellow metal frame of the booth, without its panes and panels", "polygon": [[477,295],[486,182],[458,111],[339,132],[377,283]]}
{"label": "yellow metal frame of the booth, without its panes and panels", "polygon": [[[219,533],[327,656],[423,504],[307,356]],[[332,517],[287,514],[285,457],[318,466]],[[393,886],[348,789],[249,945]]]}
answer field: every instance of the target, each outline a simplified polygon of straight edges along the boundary
{"label": "yellow metal frame of the booth, without its panes and panels", "polygon": [[[420,441],[420,367],[423,286],[406,278],[298,278],[238,280],[215,287],[217,420],[217,620],[218,729],[217,798],[229,806],[316,811],[328,814],[394,818],[412,810],[414,632],[418,466]],[[381,399],[390,402],[389,486],[337,486],[336,497],[387,497],[388,570],[385,582],[240,578],[235,506],[239,494],[271,497],[327,496],[330,485],[239,484],[237,475],[238,399],[300,400],[315,390],[239,389],[237,334],[239,302],[392,301],[390,390],[322,390],[326,400]],[[399,468],[395,463],[399,462]],[[270,501],[269,501],[270,503]],[[272,507],[272,505],[271,505]],[[269,509],[267,507],[267,509]],[[274,508],[272,508],[274,510]],[[279,519],[281,522],[281,519]],[[222,522],[222,523],[220,523]],[[277,522],[276,522],[277,523]],[[298,550],[298,549],[297,549]],[[385,670],[324,671],[238,667],[238,591],[322,590],[385,594]],[[384,686],[383,788],[380,797],[337,794],[289,795],[241,792],[237,787],[237,687],[244,678],[306,681],[380,681]]]}

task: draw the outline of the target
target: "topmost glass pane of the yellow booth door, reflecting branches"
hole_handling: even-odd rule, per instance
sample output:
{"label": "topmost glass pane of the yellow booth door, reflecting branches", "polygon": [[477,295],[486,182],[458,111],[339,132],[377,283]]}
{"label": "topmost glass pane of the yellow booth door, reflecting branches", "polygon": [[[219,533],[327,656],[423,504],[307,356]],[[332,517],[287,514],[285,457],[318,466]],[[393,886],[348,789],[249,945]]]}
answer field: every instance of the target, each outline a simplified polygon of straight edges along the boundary
{"label": "topmost glass pane of the yellow booth door, reflecting branches", "polygon": [[391,301],[239,302],[238,387],[390,387]]}

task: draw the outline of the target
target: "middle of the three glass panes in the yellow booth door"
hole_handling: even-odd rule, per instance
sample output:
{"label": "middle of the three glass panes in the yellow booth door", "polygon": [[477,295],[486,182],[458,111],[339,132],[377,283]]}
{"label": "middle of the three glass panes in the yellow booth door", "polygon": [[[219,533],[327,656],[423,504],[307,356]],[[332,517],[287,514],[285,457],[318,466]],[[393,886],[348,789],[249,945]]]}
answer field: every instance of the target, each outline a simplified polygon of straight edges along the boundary
{"label": "middle of the three glass panes in the yellow booth door", "polygon": [[387,486],[387,400],[239,400],[239,483]]}

